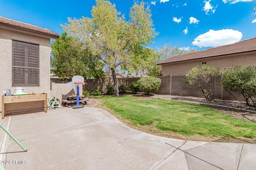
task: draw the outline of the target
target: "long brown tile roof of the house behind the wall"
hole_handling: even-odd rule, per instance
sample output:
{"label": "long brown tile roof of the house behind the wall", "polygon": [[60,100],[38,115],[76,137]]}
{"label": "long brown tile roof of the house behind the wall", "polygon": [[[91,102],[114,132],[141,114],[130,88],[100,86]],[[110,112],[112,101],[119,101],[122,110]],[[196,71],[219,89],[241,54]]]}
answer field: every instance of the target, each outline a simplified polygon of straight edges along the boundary
{"label": "long brown tile roof of the house behind the wall", "polygon": [[166,63],[175,63],[175,62],[181,62],[181,61],[196,60],[200,58],[225,56],[229,54],[238,54],[238,53],[253,52],[253,51],[256,51],[256,37],[239,41],[238,43],[234,43],[234,44],[209,48],[209,49],[192,52],[192,53],[171,56],[166,60],[159,62],[157,64],[161,65]]}

